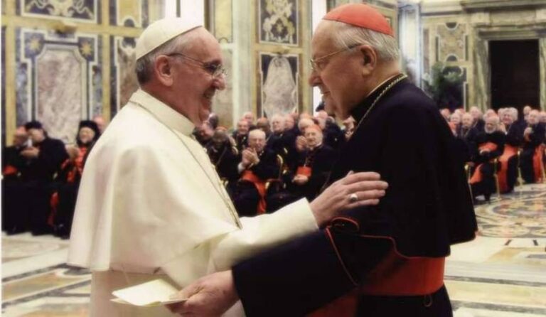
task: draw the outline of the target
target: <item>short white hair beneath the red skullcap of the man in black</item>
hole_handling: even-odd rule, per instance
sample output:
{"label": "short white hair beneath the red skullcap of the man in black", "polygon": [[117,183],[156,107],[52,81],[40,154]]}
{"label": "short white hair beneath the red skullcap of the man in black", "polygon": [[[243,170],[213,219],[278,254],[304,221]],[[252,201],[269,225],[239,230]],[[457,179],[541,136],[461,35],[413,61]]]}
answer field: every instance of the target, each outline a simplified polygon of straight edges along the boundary
{"label": "short white hair beneath the red skullcap of the man in black", "polygon": [[333,41],[339,50],[357,44],[370,45],[378,53],[379,60],[397,61],[400,58],[398,43],[392,36],[339,21],[323,20],[321,23],[331,29]]}

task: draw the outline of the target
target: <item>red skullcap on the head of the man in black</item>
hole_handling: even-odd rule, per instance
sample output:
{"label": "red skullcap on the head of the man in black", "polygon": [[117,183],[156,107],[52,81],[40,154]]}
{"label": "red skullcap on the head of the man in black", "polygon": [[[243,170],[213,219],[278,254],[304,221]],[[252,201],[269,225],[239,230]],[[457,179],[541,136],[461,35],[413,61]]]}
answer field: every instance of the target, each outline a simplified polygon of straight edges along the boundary
{"label": "red skullcap on the head of the man in black", "polygon": [[395,36],[385,16],[367,4],[344,4],[331,10],[323,20],[339,21],[360,28]]}

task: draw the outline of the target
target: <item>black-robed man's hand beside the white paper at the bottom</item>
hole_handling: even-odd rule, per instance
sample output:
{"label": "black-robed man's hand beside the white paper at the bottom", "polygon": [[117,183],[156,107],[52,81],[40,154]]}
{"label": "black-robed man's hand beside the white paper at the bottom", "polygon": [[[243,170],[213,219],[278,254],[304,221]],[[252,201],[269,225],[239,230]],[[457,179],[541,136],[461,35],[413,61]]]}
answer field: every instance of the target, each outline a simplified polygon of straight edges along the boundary
{"label": "black-robed man's hand beside the white paper at the bottom", "polygon": [[184,317],[222,316],[239,300],[231,271],[204,276],[178,292],[173,299],[188,299],[168,305],[173,313]]}

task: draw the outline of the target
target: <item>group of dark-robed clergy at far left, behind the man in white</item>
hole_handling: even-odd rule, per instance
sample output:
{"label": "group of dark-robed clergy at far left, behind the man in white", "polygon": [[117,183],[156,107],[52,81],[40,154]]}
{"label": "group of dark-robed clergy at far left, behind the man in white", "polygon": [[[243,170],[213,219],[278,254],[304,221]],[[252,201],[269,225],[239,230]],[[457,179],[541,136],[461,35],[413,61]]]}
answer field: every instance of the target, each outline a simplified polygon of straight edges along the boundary
{"label": "group of dark-robed clergy at far left, behind the man in white", "polygon": [[85,159],[105,126],[100,116],[81,121],[71,144],[38,121],[16,129],[13,145],[2,149],[3,231],[70,237]]}

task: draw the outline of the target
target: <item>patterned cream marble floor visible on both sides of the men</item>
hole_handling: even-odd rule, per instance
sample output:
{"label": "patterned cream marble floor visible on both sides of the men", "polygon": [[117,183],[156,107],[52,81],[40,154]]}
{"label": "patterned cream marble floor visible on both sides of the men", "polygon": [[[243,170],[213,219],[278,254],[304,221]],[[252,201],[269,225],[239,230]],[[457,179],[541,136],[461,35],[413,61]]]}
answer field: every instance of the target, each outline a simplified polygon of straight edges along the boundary
{"label": "patterned cream marble floor visible on both sides of the men", "polygon": [[[479,235],[452,247],[446,286],[455,317],[546,316],[546,184],[476,206]],[[2,316],[87,316],[90,274],[65,264],[68,242],[1,237]]]}

